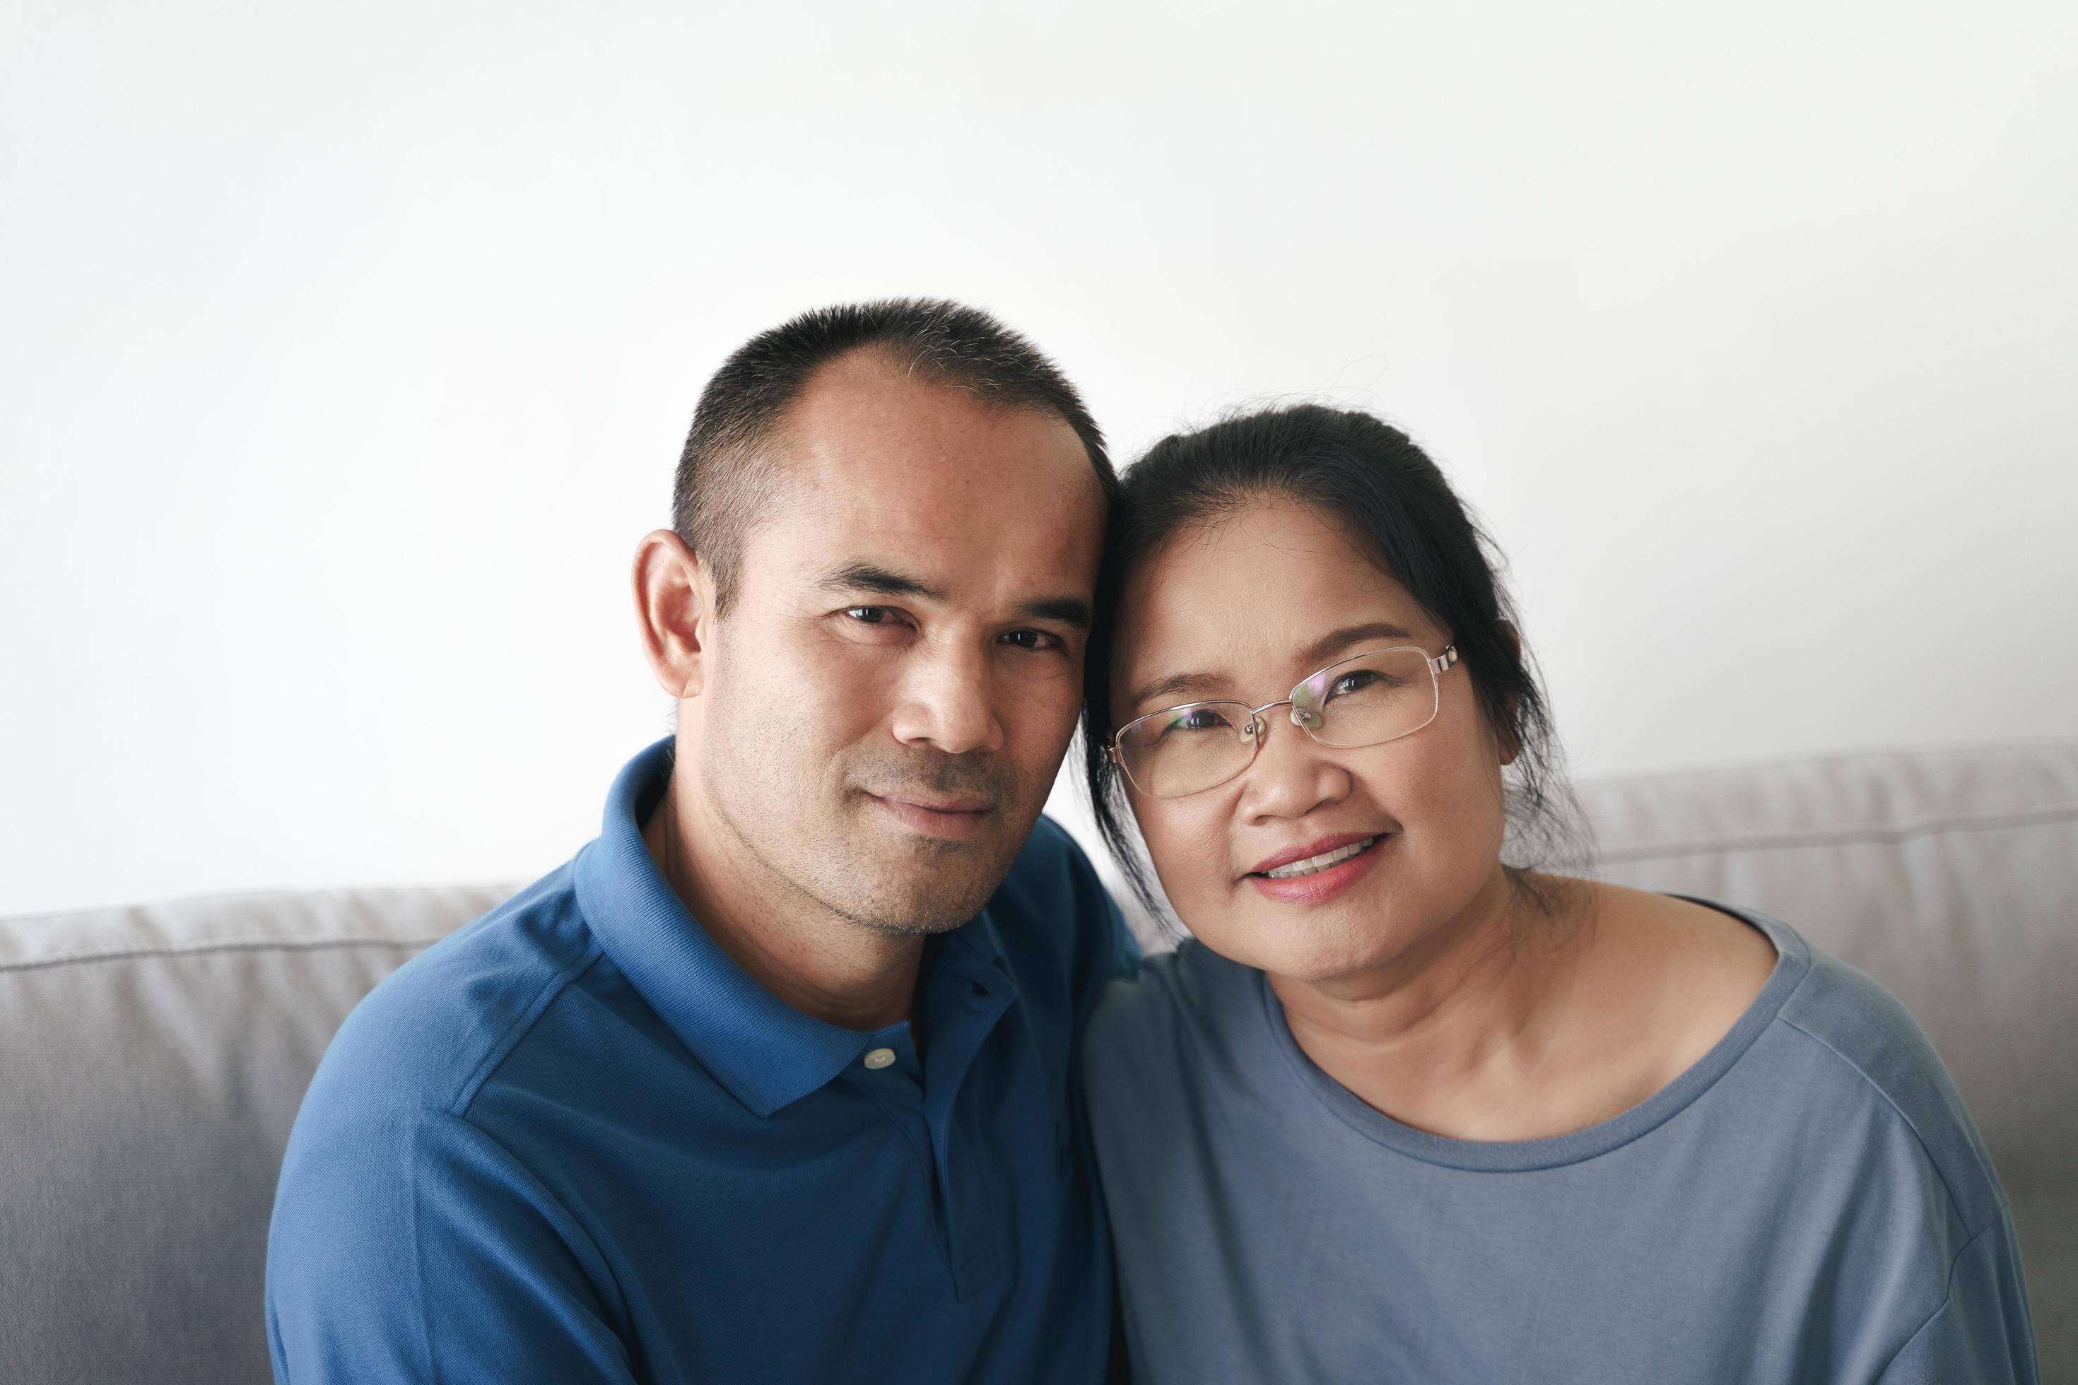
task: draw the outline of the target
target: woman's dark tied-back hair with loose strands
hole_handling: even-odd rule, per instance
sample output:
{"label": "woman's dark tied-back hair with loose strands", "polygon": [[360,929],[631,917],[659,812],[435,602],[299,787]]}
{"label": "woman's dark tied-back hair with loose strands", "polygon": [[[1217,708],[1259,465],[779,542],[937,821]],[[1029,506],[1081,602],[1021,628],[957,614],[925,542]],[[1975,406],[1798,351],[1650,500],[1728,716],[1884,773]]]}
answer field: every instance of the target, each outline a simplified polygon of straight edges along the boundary
{"label": "woman's dark tied-back hair with loose strands", "polygon": [[1450,482],[1398,428],[1353,409],[1293,405],[1230,417],[1155,442],[1126,469],[1097,579],[1083,683],[1083,754],[1097,831],[1149,914],[1162,903],[1141,856],[1124,783],[1108,756],[1112,654],[1126,579],[1182,529],[1263,498],[1290,498],[1363,540],[1457,646],[1488,727],[1515,748],[1507,770],[1509,876],[1556,907],[1550,864],[1586,864],[1588,837],[1565,785],[1550,708],[1521,623],[1496,575],[1492,542]]}

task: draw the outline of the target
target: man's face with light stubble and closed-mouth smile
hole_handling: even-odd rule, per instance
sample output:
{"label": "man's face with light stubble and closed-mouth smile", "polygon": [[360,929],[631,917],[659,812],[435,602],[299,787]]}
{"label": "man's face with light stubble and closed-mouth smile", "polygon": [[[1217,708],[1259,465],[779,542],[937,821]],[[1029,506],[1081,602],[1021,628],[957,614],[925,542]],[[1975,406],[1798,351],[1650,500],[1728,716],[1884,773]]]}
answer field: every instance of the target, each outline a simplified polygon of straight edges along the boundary
{"label": "man's face with light stubble and closed-mouth smile", "polygon": [[1089,457],[1049,413],[867,355],[810,380],[773,451],[771,513],[682,704],[702,816],[734,837],[711,845],[867,928],[954,928],[1074,731],[1103,529]]}

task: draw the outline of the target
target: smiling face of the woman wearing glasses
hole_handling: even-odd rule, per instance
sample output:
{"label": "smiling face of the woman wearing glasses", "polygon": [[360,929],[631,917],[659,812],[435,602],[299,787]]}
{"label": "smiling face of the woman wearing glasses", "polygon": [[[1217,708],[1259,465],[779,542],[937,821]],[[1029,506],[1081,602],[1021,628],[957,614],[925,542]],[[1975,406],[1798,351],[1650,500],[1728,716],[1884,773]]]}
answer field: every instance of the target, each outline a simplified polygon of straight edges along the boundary
{"label": "smiling face of the woman wearing glasses", "polygon": [[[1261,706],[1351,654],[1434,656],[1450,642],[1351,529],[1286,498],[1178,532],[1133,573],[1120,617],[1114,725],[1178,702]],[[1234,779],[1170,799],[1128,785],[1191,932],[1234,961],[1320,982],[1407,957],[1494,891],[1504,897],[1504,758],[1465,669],[1440,675],[1438,691],[1430,725],[1382,745],[1317,745],[1272,708]],[[1293,851],[1361,839],[1376,841],[1317,874],[1263,874]]]}

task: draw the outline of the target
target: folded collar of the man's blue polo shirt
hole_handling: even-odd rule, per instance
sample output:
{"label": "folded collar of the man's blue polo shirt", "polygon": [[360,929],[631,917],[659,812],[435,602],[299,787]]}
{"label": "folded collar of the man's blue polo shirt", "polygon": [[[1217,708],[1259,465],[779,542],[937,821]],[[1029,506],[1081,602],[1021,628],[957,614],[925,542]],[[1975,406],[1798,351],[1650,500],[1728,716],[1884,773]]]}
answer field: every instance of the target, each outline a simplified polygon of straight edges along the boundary
{"label": "folded collar of the man's blue polo shirt", "polygon": [[[707,936],[642,841],[642,818],[671,783],[673,743],[657,741],[619,772],[598,839],[578,853],[584,922],[613,966],[736,1101],[761,1117],[829,1084],[877,1038],[804,1015]],[[1002,974],[987,912],[945,934],[960,955]],[[1008,976],[1004,976],[1008,980]]]}

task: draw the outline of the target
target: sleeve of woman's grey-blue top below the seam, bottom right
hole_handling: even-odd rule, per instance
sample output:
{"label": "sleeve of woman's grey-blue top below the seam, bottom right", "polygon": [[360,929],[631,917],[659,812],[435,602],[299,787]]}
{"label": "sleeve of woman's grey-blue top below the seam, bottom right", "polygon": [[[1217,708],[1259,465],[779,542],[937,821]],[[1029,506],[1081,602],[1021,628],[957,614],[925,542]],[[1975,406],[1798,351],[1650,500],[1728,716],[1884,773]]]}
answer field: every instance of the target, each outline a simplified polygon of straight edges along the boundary
{"label": "sleeve of woman's grey-blue top below the seam, bottom right", "polygon": [[2036,1379],[2014,1223],[2001,1217],[1955,1256],[1947,1300],[1899,1348],[1876,1385],[2036,1385]]}

